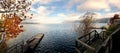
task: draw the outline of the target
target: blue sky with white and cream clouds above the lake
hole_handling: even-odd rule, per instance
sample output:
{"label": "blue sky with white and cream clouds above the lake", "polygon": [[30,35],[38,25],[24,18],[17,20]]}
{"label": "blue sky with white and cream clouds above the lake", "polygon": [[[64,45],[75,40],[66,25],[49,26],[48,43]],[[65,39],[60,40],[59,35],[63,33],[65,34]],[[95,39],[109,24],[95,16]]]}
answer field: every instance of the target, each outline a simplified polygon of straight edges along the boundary
{"label": "blue sky with white and cream clouds above the lake", "polygon": [[44,24],[80,20],[86,12],[96,13],[95,18],[110,18],[120,14],[120,0],[33,0],[31,22]]}

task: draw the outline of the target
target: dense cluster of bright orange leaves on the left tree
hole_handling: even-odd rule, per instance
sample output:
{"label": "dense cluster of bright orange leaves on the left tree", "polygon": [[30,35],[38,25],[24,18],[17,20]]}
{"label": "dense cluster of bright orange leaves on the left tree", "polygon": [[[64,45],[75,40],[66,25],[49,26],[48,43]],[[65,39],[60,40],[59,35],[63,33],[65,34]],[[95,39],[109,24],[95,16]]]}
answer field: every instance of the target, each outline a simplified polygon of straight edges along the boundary
{"label": "dense cluster of bright orange leaves on the left tree", "polygon": [[15,38],[23,31],[22,26],[20,26],[22,19],[19,18],[16,14],[2,14],[0,30],[5,32],[6,38]]}

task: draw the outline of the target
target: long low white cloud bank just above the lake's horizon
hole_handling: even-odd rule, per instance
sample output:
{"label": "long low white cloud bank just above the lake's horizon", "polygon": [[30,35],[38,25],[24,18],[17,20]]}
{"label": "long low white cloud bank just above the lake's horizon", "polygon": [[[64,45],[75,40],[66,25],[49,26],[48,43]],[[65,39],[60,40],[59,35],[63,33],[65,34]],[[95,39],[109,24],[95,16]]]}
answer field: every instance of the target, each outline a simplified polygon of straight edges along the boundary
{"label": "long low white cloud bank just above the lake's horizon", "polygon": [[53,23],[62,23],[64,21],[79,20],[80,16],[81,14],[76,14],[76,13],[71,13],[71,14],[59,13],[57,14],[57,16],[54,17],[40,16],[39,14],[35,14],[33,16],[33,19],[27,21],[38,22],[43,24],[51,24],[51,23],[53,24]]}

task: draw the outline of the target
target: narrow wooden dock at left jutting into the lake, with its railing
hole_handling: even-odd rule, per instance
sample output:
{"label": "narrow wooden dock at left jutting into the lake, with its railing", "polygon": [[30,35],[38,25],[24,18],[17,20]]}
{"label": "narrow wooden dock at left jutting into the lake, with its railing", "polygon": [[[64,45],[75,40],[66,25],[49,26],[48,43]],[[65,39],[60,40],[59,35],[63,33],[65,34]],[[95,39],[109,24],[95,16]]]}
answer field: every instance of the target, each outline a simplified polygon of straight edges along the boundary
{"label": "narrow wooden dock at left jutting into the lake, with its railing", "polygon": [[36,46],[40,43],[44,34],[39,33],[27,41],[20,41],[17,44],[7,47],[3,53],[31,53],[35,50]]}

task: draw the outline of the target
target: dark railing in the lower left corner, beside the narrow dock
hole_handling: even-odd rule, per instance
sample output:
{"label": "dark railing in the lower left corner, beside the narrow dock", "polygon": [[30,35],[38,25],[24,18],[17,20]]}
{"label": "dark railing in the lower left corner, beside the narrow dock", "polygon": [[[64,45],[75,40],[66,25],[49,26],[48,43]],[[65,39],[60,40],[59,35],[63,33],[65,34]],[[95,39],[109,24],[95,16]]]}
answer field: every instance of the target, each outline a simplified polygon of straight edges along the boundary
{"label": "dark railing in the lower left corner, beside the narrow dock", "polygon": [[12,46],[2,48],[0,53],[25,53],[27,49],[29,49],[29,43],[22,40]]}

